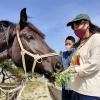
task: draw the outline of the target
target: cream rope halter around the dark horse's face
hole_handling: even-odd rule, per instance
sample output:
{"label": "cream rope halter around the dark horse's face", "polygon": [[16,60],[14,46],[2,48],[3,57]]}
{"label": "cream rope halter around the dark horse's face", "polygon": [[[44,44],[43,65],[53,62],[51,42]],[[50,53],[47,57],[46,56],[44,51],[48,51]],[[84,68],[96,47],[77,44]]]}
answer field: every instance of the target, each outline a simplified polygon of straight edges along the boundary
{"label": "cream rope halter around the dark horse's face", "polygon": [[[21,56],[22,56],[22,64],[23,64],[23,68],[24,68],[24,72],[25,72],[25,76],[27,77],[27,72],[26,72],[26,64],[25,64],[25,54],[31,56],[34,58],[34,62],[33,62],[33,66],[32,66],[32,73],[34,72],[36,63],[42,63],[42,59],[46,58],[46,57],[51,57],[51,56],[57,56],[57,53],[49,53],[49,54],[43,54],[43,55],[39,55],[39,54],[33,54],[27,50],[24,49],[21,39],[19,37],[19,32],[17,31],[17,39],[18,39],[18,43],[20,45],[21,48]],[[40,61],[38,61],[39,59],[41,59]]]}

